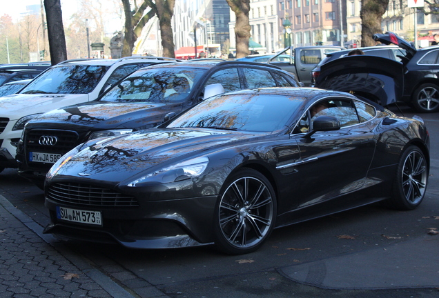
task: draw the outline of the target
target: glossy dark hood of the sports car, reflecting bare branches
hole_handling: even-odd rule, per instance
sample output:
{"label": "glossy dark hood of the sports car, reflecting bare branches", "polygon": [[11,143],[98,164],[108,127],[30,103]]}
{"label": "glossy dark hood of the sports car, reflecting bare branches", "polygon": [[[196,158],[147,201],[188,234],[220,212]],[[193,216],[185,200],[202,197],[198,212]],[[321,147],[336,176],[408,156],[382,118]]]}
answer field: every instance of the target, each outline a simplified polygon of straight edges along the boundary
{"label": "glossy dark hood of the sports car, reflecting bare branches", "polygon": [[255,134],[208,129],[153,129],[95,140],[62,166],[57,177],[87,176],[96,181],[118,183],[141,173],[145,175],[161,170],[186,158],[197,157],[197,152],[215,146],[226,143],[230,146],[232,142]]}

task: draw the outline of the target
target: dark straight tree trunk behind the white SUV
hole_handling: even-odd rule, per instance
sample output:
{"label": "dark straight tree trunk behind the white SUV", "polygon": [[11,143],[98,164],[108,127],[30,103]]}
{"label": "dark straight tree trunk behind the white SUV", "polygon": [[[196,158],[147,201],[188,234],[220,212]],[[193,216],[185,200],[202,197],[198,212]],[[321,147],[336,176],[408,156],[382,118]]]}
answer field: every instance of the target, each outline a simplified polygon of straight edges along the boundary
{"label": "dark straight tree trunk behind the white SUV", "polygon": [[50,61],[52,65],[67,59],[66,37],[64,36],[60,1],[61,0],[44,0],[50,48]]}

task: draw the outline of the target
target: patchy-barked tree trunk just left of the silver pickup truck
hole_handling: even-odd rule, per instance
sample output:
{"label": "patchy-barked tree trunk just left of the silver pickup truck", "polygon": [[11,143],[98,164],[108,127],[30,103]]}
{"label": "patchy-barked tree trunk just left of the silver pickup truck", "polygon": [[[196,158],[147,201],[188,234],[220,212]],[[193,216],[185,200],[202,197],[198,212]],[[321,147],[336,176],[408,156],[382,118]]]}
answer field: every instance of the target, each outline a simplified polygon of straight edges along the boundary
{"label": "patchy-barked tree trunk just left of the silver pickup truck", "polygon": [[[248,40],[250,39],[250,0],[226,0],[228,6],[235,12],[235,37],[236,37],[236,58],[248,56]],[[364,0],[363,0],[364,1]]]}

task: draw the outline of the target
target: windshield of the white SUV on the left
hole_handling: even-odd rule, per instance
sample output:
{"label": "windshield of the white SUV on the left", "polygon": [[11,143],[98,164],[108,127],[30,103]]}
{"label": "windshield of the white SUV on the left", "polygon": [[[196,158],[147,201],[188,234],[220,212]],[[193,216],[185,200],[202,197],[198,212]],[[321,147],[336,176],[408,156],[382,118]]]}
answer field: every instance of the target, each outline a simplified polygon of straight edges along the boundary
{"label": "windshield of the white SUV on the left", "polygon": [[43,72],[20,93],[87,94],[104,77],[109,66],[54,66]]}

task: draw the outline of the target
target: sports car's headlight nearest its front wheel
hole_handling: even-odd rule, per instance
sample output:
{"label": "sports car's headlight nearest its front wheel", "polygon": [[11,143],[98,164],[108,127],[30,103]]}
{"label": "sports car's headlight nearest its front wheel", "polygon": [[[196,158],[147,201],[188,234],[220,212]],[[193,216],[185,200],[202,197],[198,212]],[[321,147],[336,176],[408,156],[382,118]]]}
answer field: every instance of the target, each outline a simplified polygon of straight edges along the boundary
{"label": "sports car's headlight nearest its front wheel", "polygon": [[208,163],[208,157],[197,157],[188,161],[176,163],[173,166],[162,168],[148,175],[144,175],[134,181],[131,181],[130,183],[128,183],[128,186],[135,187],[137,186],[137,184],[142,183],[146,179],[157,175],[162,175],[162,181],[165,183],[191,179],[193,177],[202,175],[204,170],[206,170]]}

